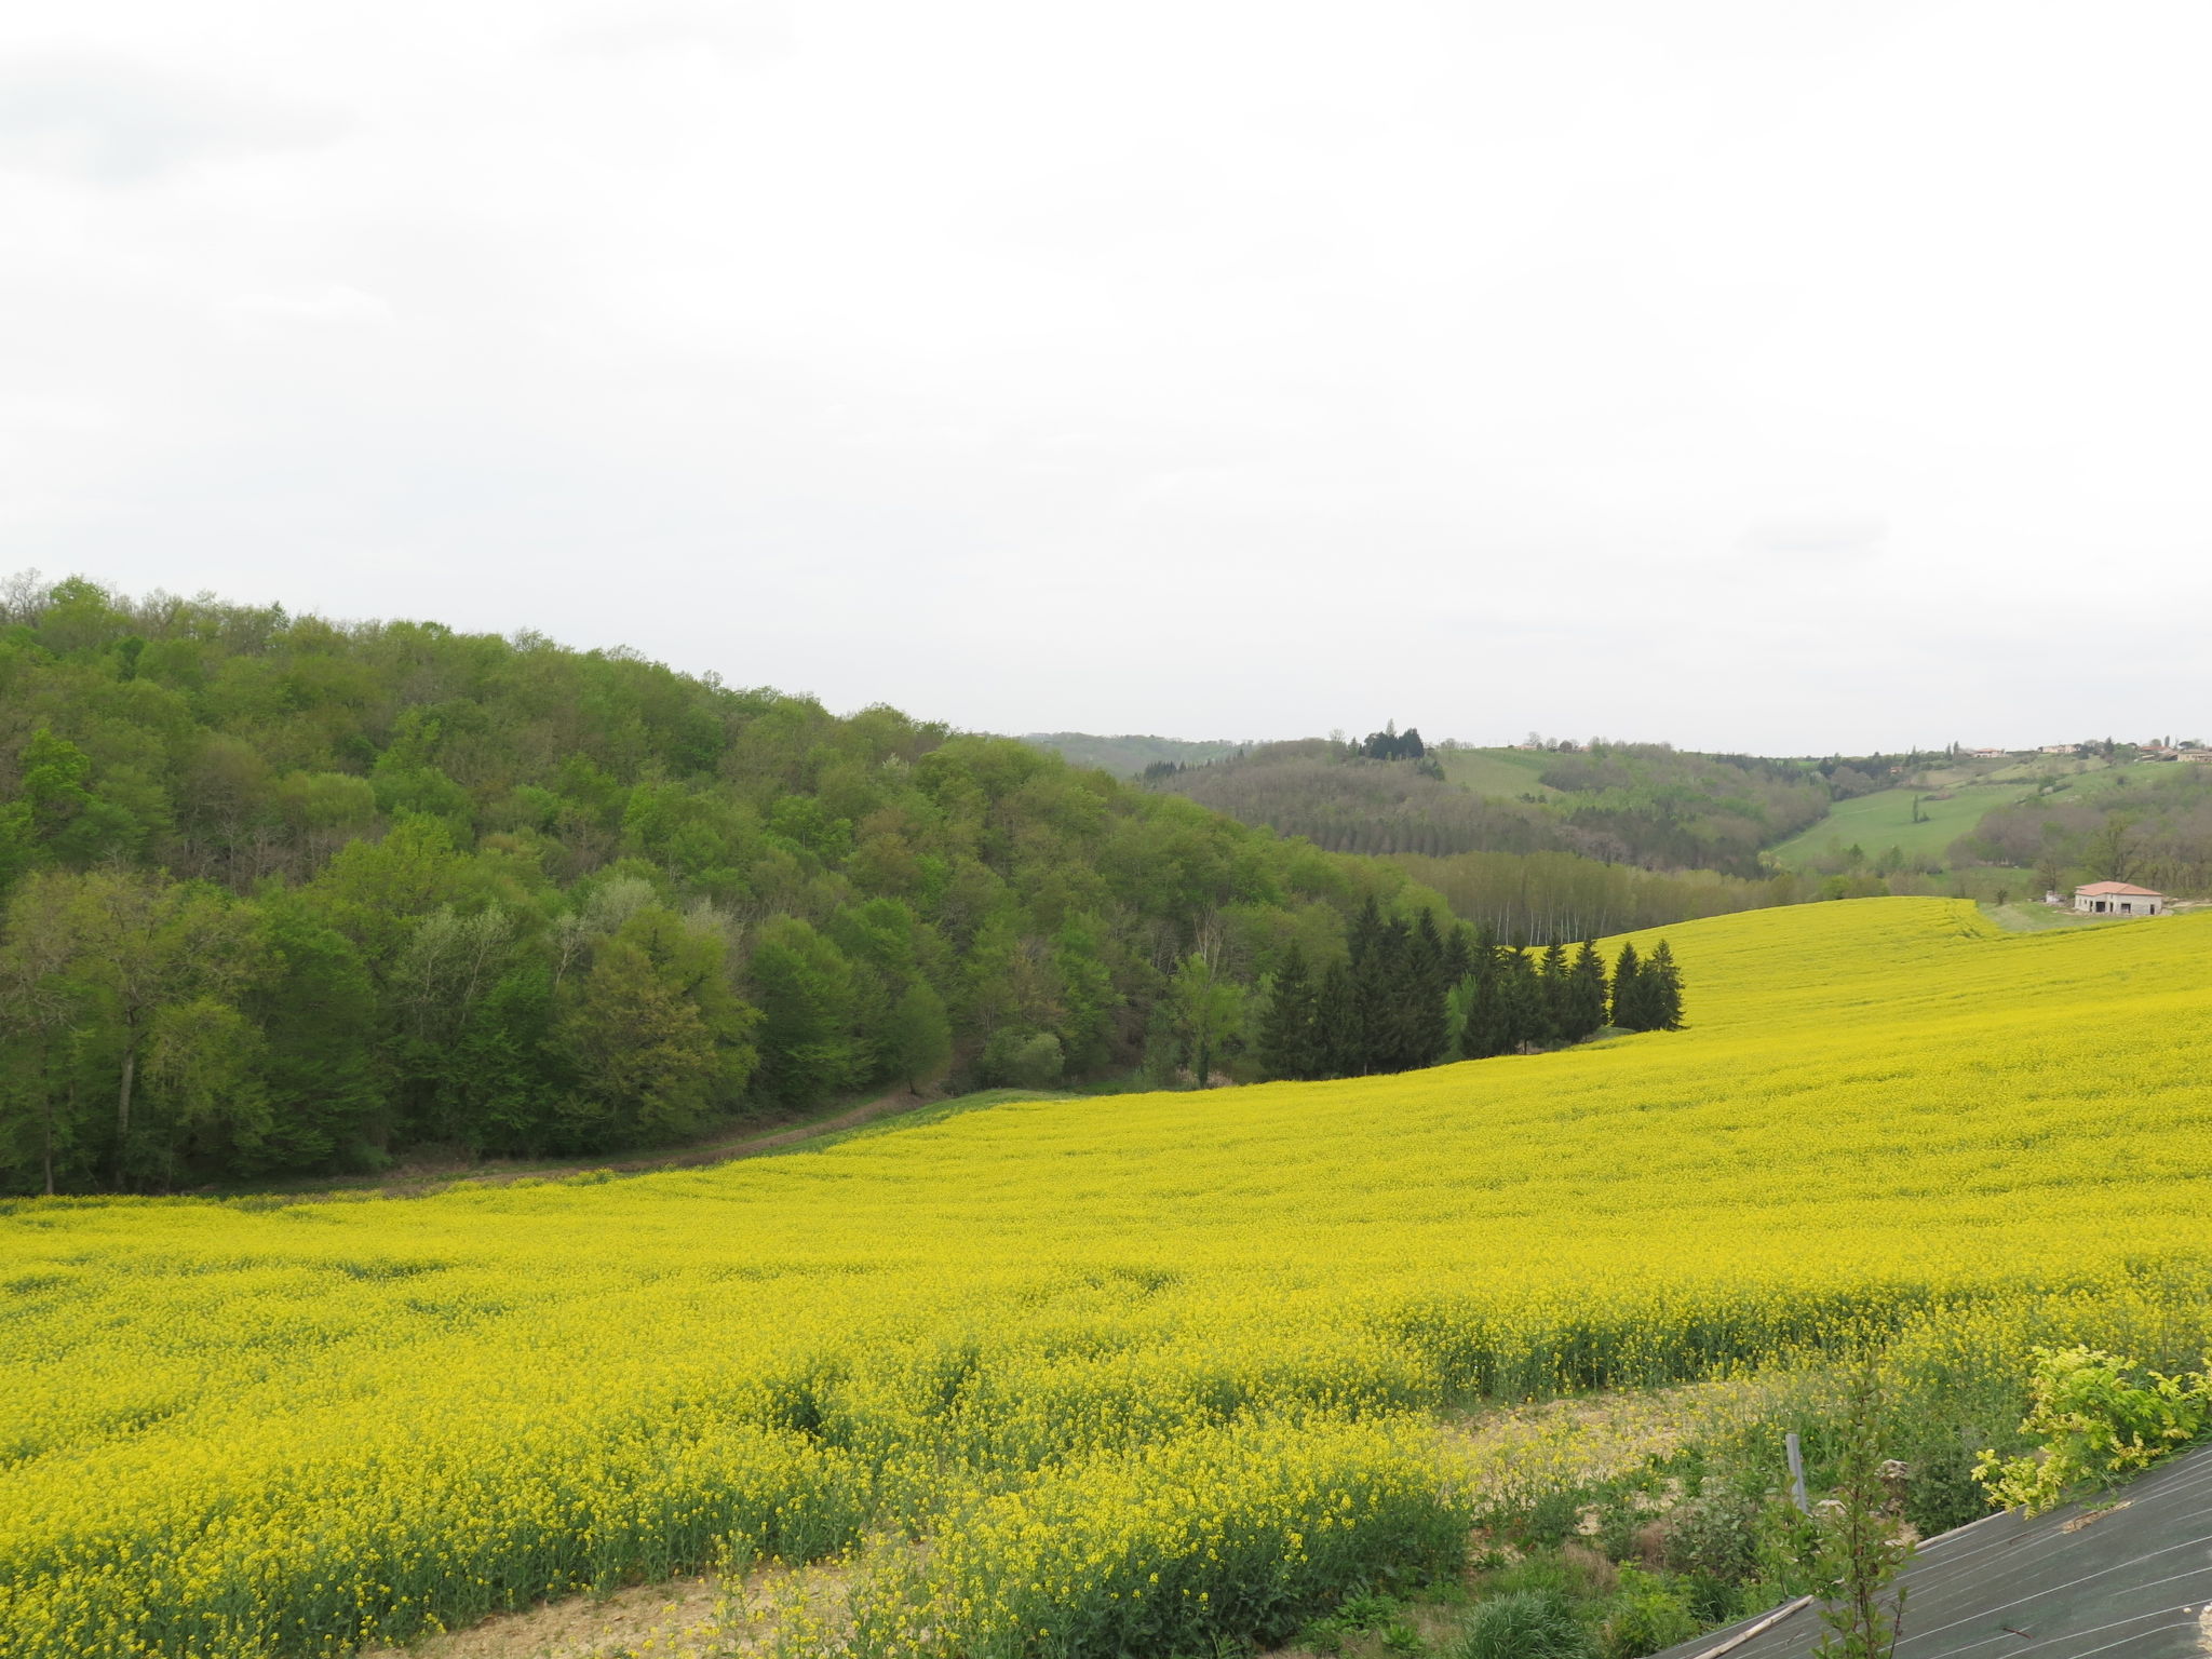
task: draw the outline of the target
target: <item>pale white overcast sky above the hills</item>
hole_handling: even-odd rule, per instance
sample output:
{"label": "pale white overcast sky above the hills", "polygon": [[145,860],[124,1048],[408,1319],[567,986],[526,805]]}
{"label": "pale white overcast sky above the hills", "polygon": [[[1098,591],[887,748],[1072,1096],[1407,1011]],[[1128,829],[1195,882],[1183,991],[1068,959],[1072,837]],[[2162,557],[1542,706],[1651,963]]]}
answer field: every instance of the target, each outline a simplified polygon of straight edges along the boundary
{"label": "pale white overcast sky above the hills", "polygon": [[0,571],[995,730],[2212,737],[2212,11],[0,13]]}

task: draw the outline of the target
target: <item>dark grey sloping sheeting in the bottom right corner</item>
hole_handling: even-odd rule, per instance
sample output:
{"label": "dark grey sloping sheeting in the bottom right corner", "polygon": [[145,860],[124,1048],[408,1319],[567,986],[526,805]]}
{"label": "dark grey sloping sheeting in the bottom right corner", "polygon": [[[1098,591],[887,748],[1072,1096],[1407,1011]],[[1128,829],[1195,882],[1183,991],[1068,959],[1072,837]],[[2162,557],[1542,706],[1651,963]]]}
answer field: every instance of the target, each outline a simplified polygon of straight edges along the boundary
{"label": "dark grey sloping sheeting in the bottom right corner", "polygon": [[[2048,1515],[1989,1515],[1931,1537],[1902,1573],[1896,1659],[2205,1659],[2212,1655],[2212,1449]],[[1801,1606],[1708,1630],[1657,1659],[1805,1659]],[[1728,1646],[1734,1641],[1736,1646]]]}

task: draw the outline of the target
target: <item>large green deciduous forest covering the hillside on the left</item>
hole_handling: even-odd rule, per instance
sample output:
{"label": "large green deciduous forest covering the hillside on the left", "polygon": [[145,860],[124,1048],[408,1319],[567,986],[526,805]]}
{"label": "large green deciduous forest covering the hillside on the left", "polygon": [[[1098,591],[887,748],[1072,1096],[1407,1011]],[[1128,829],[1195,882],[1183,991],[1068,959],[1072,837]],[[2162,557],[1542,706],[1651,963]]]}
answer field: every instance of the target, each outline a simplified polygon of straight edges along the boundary
{"label": "large green deciduous forest covering the hillside on the left", "polygon": [[1175,1079],[1367,900],[1442,909],[1013,739],[626,650],[84,580],[0,611],[7,1190]]}

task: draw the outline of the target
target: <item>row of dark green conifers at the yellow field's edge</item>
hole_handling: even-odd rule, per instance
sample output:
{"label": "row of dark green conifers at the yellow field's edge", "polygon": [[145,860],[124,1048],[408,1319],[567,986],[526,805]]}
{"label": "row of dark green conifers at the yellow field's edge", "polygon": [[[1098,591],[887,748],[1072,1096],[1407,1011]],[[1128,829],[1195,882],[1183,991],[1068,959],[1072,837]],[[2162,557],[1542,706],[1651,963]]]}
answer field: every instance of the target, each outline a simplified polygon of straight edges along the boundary
{"label": "row of dark green conifers at the yellow field's edge", "polygon": [[1272,975],[1259,1029],[1270,1077],[1367,1077],[1555,1048],[1608,1024],[1683,1024],[1681,969],[1666,940],[1648,958],[1624,942],[1608,971],[1593,940],[1531,953],[1486,929],[1438,929],[1429,911],[1385,920],[1369,905],[1345,947],[1318,975],[1294,947]]}

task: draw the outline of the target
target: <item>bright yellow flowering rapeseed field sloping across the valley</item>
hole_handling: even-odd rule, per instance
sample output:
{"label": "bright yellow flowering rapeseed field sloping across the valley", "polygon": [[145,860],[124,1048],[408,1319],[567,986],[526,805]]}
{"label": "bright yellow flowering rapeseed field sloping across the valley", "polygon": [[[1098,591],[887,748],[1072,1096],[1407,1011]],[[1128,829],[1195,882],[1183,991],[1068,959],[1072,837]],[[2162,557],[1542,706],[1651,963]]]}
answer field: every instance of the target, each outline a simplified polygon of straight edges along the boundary
{"label": "bright yellow flowering rapeseed field sloping across the valley", "polygon": [[1891,1332],[2203,1334],[2212,916],[1668,929],[1683,1033],[995,1106],[719,1170],[0,1217],[0,1652],[345,1652],[925,1535],[876,1650],[1281,1628],[1458,1504],[1425,1425]]}

